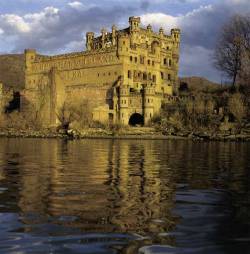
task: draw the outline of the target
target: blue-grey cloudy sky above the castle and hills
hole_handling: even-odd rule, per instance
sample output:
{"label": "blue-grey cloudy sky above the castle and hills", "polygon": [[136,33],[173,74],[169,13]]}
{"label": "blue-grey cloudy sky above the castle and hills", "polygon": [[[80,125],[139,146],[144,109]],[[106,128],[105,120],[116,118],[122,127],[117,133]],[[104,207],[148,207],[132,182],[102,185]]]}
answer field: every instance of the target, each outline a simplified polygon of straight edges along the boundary
{"label": "blue-grey cloudy sky above the castle and hills", "polygon": [[180,76],[221,82],[226,78],[213,67],[221,26],[249,13],[250,0],[0,0],[0,54],[82,51],[87,31],[124,28],[129,16],[140,16],[155,31],[181,29]]}

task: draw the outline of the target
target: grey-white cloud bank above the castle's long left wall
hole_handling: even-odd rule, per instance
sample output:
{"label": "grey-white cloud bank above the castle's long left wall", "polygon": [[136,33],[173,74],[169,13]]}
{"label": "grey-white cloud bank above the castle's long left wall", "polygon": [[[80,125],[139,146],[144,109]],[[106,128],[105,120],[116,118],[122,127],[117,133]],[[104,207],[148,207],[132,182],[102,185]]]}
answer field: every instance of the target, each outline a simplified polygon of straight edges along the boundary
{"label": "grey-white cloud bank above the castle's long left wall", "polygon": [[[125,15],[127,18],[136,12],[136,9],[118,6],[103,9],[89,5],[88,8],[75,9],[80,5],[76,2],[72,4],[74,8],[46,7],[23,16],[0,15],[0,29],[12,40],[13,52],[36,48],[41,53],[55,54],[69,48],[74,50],[72,45],[81,44],[83,50],[87,31],[97,32],[103,26],[119,24],[121,17]],[[78,49],[79,46],[75,48]]]}

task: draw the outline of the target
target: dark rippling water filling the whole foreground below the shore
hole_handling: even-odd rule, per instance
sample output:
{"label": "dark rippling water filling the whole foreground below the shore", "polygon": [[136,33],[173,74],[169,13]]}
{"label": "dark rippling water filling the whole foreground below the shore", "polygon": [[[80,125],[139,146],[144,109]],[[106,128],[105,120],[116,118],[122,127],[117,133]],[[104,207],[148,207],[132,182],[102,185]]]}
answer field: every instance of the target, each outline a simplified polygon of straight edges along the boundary
{"label": "dark rippling water filling the whole foreground below the shore", "polygon": [[250,253],[250,144],[0,139],[0,253]]}

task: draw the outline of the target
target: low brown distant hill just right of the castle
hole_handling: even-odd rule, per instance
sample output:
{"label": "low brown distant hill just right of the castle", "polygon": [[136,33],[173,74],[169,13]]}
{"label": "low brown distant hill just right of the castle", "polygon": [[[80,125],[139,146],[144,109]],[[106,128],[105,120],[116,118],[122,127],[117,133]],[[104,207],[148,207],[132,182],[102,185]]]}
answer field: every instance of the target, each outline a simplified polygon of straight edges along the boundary
{"label": "low brown distant hill just right of the castle", "polygon": [[[185,90],[187,85],[188,91],[211,91],[221,88],[221,85],[212,81],[209,81],[206,78],[202,77],[181,77],[179,78],[179,87]],[[183,91],[184,91],[183,90]]]}

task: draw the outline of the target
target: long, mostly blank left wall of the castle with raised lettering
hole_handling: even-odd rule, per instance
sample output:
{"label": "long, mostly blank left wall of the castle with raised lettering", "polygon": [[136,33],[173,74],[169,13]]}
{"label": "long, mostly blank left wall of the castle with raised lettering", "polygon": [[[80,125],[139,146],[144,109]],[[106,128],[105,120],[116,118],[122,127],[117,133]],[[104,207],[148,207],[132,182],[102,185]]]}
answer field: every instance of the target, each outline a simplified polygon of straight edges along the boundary
{"label": "long, mostly blank left wall of the castle with raised lettering", "polygon": [[34,50],[26,50],[25,53],[26,89],[23,97],[37,104],[41,91],[46,91],[42,110],[46,124],[56,124],[56,111],[67,99],[88,99],[93,110],[112,106],[110,91],[122,69],[116,51],[53,57],[37,55]]}

